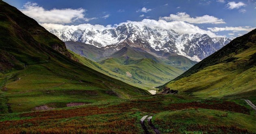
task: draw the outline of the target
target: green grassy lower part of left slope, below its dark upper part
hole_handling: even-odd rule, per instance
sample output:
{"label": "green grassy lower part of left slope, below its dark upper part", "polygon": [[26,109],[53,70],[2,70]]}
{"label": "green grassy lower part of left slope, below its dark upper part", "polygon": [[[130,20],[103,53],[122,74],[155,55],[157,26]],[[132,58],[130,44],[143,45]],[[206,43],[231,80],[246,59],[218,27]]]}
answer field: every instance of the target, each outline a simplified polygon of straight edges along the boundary
{"label": "green grassy lower part of left slope, below its dark upper part", "polygon": [[[31,65],[19,73],[12,74],[11,78],[7,80],[4,86],[7,91],[3,91],[3,93],[8,98],[7,103],[10,104],[13,112],[30,111],[35,106],[51,102],[96,102],[141,95],[139,93],[142,91],[141,89],[130,90],[126,84],[104,82],[100,77],[86,74],[79,69],[76,69],[78,73],[65,69],[49,71],[45,67],[51,65],[51,63],[48,64]],[[56,69],[58,68],[56,67]],[[35,70],[37,71],[35,72]],[[93,79],[95,77],[97,79]],[[109,94],[110,91],[115,94]],[[144,91],[141,93],[147,94]]]}

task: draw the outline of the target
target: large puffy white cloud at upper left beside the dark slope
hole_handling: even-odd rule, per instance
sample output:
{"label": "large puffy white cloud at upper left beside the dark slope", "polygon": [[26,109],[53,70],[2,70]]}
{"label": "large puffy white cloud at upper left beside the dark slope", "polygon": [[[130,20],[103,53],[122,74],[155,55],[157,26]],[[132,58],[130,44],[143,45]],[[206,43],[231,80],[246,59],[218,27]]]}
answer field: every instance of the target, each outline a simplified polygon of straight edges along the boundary
{"label": "large puffy white cloud at upper left beside the dark slope", "polygon": [[39,23],[56,23],[67,24],[78,20],[84,20],[86,22],[97,19],[96,17],[87,18],[84,13],[85,9],[51,9],[46,10],[39,6],[37,3],[27,2],[23,8],[20,9],[22,13],[32,17]]}

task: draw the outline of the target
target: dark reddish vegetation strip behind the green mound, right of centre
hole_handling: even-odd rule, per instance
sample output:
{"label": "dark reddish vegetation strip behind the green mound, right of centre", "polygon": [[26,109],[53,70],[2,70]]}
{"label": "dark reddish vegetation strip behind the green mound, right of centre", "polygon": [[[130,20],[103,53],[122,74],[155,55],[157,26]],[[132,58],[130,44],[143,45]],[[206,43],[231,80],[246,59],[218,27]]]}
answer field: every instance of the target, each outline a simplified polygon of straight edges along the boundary
{"label": "dark reddish vegetation strip behind the green mound, right of centre", "polygon": [[186,108],[205,108],[213,110],[223,110],[240,112],[249,115],[249,109],[244,106],[235,104],[234,102],[219,102],[219,101],[206,101],[206,102],[189,102],[180,104],[169,104],[165,105],[162,102],[150,102],[146,100],[141,100],[141,102],[127,102],[116,106],[112,106],[112,109],[116,110],[130,110],[132,108],[138,108],[144,112],[162,112],[166,110],[182,110]]}

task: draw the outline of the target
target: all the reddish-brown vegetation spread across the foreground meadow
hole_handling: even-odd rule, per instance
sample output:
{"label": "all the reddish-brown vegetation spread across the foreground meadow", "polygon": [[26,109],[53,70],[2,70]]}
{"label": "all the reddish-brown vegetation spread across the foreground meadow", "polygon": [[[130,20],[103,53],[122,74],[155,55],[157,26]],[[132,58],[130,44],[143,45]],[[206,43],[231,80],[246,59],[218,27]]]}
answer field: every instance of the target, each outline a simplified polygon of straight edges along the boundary
{"label": "all the reddish-brown vegetation spread across the foreground meadow", "polygon": [[[180,110],[185,108],[207,108],[215,110],[228,110],[249,114],[249,110],[233,102],[189,102],[182,104],[163,104],[157,99],[133,100],[118,105],[86,106],[67,110],[48,110],[22,113],[20,117],[29,117],[16,121],[0,122],[0,133],[87,133],[87,134],[111,134],[111,133],[139,133],[141,127],[135,126],[137,117],[128,117],[126,112],[162,112],[166,110]],[[115,113],[113,115],[101,115]],[[91,119],[87,116],[100,115]],[[72,119],[73,118],[73,119]],[[100,118],[100,119],[98,119]],[[61,126],[61,128],[60,128]],[[197,128],[200,126],[197,126]],[[189,128],[188,128],[189,129]],[[199,128],[198,128],[199,129]],[[227,132],[244,132],[237,128],[220,127]],[[234,129],[234,131],[232,130]],[[223,132],[226,132],[224,131]]]}

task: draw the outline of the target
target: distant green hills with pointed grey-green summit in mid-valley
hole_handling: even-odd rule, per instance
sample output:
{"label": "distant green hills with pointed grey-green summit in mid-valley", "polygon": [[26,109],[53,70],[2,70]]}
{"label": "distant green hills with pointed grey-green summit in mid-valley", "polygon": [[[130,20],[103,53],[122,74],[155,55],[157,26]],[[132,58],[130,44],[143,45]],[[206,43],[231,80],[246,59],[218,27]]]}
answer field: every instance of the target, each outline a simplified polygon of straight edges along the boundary
{"label": "distant green hills with pointed grey-green summit in mid-valley", "polygon": [[164,84],[184,72],[182,69],[167,65],[167,59],[161,60],[139,48],[124,47],[109,57],[111,58],[98,63],[122,75],[123,78],[133,78],[137,82],[136,86],[143,89],[154,89],[154,86]]}

